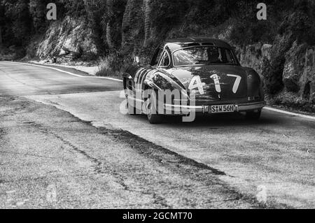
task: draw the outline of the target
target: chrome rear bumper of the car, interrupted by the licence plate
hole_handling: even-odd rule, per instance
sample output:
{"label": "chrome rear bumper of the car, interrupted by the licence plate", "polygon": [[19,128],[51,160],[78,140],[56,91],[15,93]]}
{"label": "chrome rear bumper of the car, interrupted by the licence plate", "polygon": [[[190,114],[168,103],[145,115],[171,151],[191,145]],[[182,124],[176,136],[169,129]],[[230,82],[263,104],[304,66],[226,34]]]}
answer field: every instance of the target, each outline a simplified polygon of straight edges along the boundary
{"label": "chrome rear bumper of the car, interrupted by the licence plate", "polygon": [[[214,104],[215,105],[215,104]],[[224,104],[223,104],[224,105]],[[235,104],[236,112],[244,112],[251,110],[260,110],[266,106],[265,101],[255,102],[255,103],[241,103]],[[211,106],[175,106],[175,105],[165,105],[164,109],[167,114],[186,114],[186,113],[211,113]]]}

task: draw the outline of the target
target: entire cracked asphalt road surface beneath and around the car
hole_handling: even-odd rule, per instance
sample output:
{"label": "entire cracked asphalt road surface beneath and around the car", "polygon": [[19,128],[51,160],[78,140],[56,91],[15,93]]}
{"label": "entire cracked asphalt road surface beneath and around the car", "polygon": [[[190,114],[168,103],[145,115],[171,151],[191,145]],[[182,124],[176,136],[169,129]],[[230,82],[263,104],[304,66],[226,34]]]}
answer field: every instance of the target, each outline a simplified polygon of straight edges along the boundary
{"label": "entire cracked asphalt road surface beneath and around the car", "polygon": [[314,120],[264,110],[152,126],[120,113],[118,89],[0,62],[0,207],[315,207]]}

